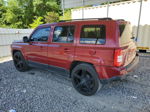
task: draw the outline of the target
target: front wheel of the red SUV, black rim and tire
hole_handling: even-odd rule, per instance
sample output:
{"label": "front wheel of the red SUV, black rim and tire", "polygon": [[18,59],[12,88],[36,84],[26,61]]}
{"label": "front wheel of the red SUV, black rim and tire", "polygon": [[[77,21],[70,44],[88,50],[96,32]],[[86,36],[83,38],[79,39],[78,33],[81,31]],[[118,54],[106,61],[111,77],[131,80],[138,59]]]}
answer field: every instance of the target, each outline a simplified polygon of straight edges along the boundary
{"label": "front wheel of the red SUV, black rim and tire", "polygon": [[29,66],[21,52],[18,51],[18,52],[14,53],[13,61],[14,61],[14,65],[18,71],[25,72],[25,71],[29,70]]}

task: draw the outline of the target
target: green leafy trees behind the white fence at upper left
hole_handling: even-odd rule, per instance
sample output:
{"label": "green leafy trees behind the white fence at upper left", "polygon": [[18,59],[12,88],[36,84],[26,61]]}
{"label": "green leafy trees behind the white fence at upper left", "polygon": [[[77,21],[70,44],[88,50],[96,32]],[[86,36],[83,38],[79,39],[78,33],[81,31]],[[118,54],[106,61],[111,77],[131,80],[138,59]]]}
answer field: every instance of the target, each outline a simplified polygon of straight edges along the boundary
{"label": "green leafy trees behind the white fence at upper left", "polygon": [[60,0],[0,0],[0,25],[29,28],[30,24],[38,21],[49,22],[48,12],[53,13],[50,17],[52,22],[58,20],[61,15]]}

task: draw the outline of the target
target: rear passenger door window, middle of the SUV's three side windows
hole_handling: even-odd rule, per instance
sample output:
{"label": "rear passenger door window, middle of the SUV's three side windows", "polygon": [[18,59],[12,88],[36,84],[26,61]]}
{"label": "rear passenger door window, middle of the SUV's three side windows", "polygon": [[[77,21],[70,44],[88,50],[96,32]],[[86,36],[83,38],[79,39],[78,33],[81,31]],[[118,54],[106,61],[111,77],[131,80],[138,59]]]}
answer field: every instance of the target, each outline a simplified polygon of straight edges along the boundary
{"label": "rear passenger door window, middle of the SUV's three side windows", "polygon": [[53,42],[73,43],[74,26],[56,26],[54,29]]}

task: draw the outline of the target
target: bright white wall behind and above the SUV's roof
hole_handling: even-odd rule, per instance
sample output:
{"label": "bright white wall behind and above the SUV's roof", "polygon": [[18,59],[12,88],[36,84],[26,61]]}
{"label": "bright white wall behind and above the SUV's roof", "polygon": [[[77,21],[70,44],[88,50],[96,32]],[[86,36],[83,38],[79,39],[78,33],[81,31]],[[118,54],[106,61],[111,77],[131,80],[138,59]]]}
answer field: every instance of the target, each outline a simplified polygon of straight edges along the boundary
{"label": "bright white wall behind and above the SUV's roof", "polygon": [[[113,19],[125,19],[132,25],[138,25],[140,2],[128,1],[109,5],[109,16]],[[83,15],[82,15],[83,13]],[[140,25],[150,25],[150,0],[143,0]],[[107,17],[107,5],[72,10],[72,19]]]}

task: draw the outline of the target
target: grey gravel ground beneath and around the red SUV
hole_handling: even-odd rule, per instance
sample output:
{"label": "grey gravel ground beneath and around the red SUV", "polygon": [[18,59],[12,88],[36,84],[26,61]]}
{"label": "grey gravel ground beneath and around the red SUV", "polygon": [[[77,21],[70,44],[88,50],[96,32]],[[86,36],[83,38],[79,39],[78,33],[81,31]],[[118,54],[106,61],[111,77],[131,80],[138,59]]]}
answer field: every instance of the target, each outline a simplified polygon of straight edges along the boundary
{"label": "grey gravel ground beneath and around the red SUV", "polygon": [[150,55],[125,79],[105,84],[94,96],[80,95],[67,74],[18,72],[0,63],[0,112],[150,112]]}

